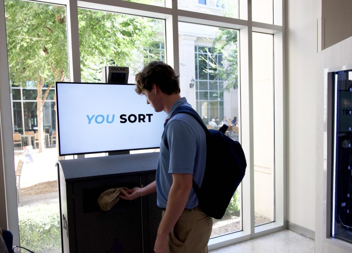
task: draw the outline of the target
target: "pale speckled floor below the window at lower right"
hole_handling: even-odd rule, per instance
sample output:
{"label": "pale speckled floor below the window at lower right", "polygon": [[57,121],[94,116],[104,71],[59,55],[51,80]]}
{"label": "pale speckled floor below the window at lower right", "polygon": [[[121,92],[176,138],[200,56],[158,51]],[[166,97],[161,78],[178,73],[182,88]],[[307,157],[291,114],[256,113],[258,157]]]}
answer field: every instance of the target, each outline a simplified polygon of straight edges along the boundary
{"label": "pale speckled floor below the window at lower right", "polygon": [[209,253],[314,253],[314,240],[285,229]]}

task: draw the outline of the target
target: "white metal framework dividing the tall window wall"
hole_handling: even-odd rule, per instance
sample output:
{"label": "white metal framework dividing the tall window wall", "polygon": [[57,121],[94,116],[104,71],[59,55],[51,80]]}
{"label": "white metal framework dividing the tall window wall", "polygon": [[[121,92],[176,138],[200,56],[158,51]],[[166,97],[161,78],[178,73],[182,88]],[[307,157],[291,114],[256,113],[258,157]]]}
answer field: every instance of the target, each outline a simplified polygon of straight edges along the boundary
{"label": "white metal framework dividing the tall window wall", "polygon": [[[81,81],[77,15],[77,8],[80,7],[165,19],[165,58],[177,74],[180,72],[178,21],[238,29],[240,37],[240,139],[247,158],[241,198],[243,230],[210,239],[209,249],[256,238],[287,227],[284,0],[273,2],[274,25],[252,22],[251,0],[239,0],[239,19],[178,10],[176,0],[165,0],[166,7],[123,0],[45,0],[45,2],[66,5],[69,73],[70,81],[73,82]],[[6,207],[0,208],[0,226],[11,230],[14,235],[14,244],[19,245],[4,0],[1,0],[0,5],[0,206]],[[256,227],[254,226],[252,32],[265,32],[274,36],[275,217],[274,222]]]}

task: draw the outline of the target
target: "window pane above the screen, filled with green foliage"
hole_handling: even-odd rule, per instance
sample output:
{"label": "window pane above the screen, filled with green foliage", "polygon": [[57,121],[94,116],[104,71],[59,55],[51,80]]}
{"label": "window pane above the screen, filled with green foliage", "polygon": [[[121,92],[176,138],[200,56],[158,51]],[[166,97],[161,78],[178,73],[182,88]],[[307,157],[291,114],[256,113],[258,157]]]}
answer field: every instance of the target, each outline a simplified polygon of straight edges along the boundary
{"label": "window pane above the screen, filled with green foliage", "polygon": [[147,62],[165,60],[163,20],[78,9],[78,25],[82,82],[101,82],[105,66],[126,66],[134,83]]}

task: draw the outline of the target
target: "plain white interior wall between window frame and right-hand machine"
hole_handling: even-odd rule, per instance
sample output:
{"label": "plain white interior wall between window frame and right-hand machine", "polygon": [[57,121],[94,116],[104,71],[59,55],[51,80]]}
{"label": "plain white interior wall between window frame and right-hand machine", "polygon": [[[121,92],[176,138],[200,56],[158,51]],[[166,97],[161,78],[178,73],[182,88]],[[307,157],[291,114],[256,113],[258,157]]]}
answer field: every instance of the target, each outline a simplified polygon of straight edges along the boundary
{"label": "plain white interior wall between window frame and right-hand machine", "polygon": [[321,0],[287,0],[288,222],[315,230],[315,89]]}

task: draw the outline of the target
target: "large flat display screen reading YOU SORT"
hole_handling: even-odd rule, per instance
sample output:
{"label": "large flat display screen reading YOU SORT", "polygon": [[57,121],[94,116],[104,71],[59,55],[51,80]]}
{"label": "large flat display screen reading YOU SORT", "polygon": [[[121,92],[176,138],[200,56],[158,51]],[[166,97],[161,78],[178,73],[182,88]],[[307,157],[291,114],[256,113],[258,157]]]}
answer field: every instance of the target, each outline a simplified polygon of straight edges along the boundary
{"label": "large flat display screen reading YOU SORT", "polygon": [[59,155],[158,148],[167,115],[134,88],[56,82]]}

